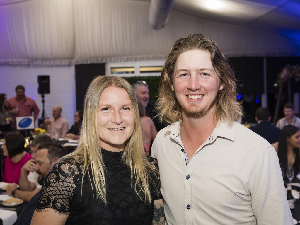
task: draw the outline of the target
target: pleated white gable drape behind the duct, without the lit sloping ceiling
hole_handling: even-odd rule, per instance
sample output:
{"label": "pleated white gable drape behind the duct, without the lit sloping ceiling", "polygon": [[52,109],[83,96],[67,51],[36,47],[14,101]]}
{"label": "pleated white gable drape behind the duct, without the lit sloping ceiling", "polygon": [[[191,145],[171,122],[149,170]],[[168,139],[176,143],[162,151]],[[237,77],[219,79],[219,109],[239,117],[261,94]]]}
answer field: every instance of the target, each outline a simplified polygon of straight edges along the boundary
{"label": "pleated white gable drape behind the duct, without the lit sloping ceiling", "polygon": [[71,65],[164,59],[180,37],[201,33],[227,57],[297,55],[299,45],[262,29],[214,22],[173,9],[163,29],[149,1],[0,0],[0,64]]}

